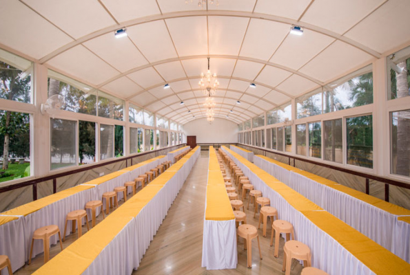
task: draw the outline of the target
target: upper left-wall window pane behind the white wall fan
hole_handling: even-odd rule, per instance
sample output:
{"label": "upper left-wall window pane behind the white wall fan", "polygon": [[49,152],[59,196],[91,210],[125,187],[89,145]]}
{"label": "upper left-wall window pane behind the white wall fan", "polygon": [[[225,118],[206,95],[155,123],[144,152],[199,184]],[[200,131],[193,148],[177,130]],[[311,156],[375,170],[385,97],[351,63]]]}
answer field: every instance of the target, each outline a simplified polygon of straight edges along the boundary
{"label": "upper left-wall window pane behind the white wall fan", "polygon": [[63,97],[65,111],[96,115],[96,89],[49,69],[48,97],[54,95]]}

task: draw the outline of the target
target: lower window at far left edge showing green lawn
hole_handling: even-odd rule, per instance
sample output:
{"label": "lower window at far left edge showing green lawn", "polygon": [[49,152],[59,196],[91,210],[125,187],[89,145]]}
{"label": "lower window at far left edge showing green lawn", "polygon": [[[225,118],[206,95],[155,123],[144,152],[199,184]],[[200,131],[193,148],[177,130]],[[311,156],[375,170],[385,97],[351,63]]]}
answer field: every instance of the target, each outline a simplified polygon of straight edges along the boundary
{"label": "lower window at far left edge showing green lawn", "polygon": [[0,111],[0,182],[30,176],[30,114]]}

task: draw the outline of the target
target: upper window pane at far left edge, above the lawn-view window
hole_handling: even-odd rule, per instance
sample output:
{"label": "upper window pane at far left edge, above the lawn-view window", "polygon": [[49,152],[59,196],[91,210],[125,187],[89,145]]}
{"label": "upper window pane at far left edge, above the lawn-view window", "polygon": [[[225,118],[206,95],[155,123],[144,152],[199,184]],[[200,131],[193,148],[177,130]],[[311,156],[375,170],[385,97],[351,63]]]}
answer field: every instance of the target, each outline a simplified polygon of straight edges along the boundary
{"label": "upper window pane at far left edge, above the lawn-view window", "polygon": [[0,98],[32,102],[32,63],[0,49]]}

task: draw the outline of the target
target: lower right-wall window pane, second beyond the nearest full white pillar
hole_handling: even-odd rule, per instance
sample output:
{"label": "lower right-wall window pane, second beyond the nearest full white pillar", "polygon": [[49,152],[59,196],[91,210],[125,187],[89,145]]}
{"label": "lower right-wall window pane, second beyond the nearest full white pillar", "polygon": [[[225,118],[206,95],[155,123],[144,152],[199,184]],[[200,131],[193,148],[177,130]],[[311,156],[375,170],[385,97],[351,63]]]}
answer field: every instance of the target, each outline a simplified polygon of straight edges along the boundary
{"label": "lower right-wall window pane, second beyond the nearest full white pillar", "polygon": [[342,119],[327,120],[323,127],[323,142],[325,145],[325,160],[343,163],[343,122]]}

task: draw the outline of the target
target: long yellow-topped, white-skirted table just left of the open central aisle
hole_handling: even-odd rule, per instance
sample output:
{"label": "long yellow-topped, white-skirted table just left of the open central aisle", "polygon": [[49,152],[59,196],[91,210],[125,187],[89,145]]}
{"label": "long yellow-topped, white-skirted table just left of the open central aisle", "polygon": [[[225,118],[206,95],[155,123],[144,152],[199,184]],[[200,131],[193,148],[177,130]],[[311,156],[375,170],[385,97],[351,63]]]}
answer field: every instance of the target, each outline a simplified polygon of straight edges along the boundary
{"label": "long yellow-topped, white-skirted table just left of the open central aisle", "polygon": [[200,152],[194,148],[34,274],[131,274],[183,186],[178,175],[187,175]]}

